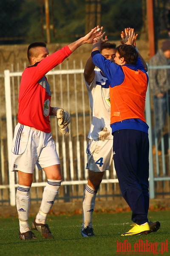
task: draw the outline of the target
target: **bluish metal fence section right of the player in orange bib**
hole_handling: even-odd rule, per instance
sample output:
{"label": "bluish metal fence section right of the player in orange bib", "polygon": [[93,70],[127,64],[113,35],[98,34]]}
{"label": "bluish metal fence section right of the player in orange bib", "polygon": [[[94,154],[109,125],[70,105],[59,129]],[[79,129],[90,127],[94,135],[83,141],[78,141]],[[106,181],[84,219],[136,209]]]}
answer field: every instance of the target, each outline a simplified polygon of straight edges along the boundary
{"label": "bluish metal fence section right of the player in orange bib", "polygon": [[[148,75],[151,69],[170,69],[169,66],[150,66]],[[168,92],[167,92],[168,93]],[[155,125],[155,109],[153,106],[153,96],[150,92],[150,86],[147,90],[146,100],[146,121],[150,127],[150,197],[170,196],[170,102],[167,102],[167,118],[163,130],[161,131],[161,140],[154,138],[153,143],[153,126]],[[156,127],[155,127],[156,128]],[[152,144],[156,145],[156,150],[152,150]]]}

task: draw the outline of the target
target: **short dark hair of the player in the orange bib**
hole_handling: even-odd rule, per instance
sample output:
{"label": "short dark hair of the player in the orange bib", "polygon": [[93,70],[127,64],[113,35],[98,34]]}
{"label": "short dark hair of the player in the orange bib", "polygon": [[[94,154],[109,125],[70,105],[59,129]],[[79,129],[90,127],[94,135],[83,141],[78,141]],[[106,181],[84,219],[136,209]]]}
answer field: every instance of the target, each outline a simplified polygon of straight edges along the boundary
{"label": "short dark hair of the player in the orange bib", "polygon": [[116,52],[119,52],[120,57],[124,57],[127,64],[136,65],[138,52],[134,46],[130,44],[121,44],[116,47]]}

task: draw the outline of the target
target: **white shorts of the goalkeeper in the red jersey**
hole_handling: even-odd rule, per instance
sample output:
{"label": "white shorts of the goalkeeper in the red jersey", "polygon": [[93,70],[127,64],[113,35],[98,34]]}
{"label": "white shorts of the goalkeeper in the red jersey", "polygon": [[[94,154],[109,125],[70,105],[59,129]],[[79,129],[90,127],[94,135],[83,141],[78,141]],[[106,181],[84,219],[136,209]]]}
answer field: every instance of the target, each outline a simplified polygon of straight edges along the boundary
{"label": "white shorts of the goalkeeper in the red jersey", "polygon": [[36,164],[38,169],[60,164],[51,132],[20,123],[15,127],[11,151],[11,171],[34,173]]}

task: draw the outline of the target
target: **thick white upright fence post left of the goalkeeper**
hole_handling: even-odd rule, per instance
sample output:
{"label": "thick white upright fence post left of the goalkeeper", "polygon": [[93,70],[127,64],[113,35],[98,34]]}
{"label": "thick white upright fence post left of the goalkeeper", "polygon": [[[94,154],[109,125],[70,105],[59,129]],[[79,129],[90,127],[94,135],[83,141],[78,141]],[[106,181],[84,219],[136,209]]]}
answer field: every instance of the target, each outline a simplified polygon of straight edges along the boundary
{"label": "thick white upright fence post left of the goalkeeper", "polygon": [[11,145],[12,145],[12,139],[13,139],[13,132],[12,132],[11,86],[10,86],[10,72],[9,72],[9,70],[4,70],[4,83],[5,83],[5,100],[6,100],[9,197],[10,197],[10,205],[14,206],[15,205],[15,179],[14,179],[14,172],[10,171]]}

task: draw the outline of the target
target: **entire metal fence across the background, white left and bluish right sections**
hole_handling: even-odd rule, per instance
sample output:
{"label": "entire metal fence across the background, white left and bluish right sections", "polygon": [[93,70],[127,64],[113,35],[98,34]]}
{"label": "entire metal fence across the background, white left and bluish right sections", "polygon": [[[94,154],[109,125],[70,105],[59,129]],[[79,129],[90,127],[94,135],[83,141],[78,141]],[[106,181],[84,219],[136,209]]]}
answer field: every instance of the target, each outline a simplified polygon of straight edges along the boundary
{"label": "entire metal fence across the background, white left and bluish right sections", "polygon": [[[59,65],[48,74],[51,84],[51,106],[61,106],[71,114],[70,135],[62,135],[57,127],[57,118],[51,116],[51,128],[56,142],[57,152],[62,167],[63,181],[59,190],[58,201],[74,201],[82,199],[88,172],[85,170],[87,163],[86,146],[87,134],[91,124],[91,110],[88,101],[88,92],[84,84],[82,61],[71,64],[68,61]],[[157,67],[149,67],[157,68]],[[162,67],[161,67],[162,68]],[[170,68],[165,66],[164,68]],[[19,68],[18,68],[19,70]],[[22,72],[11,69],[5,70],[1,75],[0,93],[0,205],[15,205],[15,190],[17,175],[9,172],[11,142],[14,127],[17,124],[18,90]],[[146,97],[146,121],[150,126],[149,139],[152,145],[153,104],[150,88]],[[168,116],[169,118],[169,116]],[[167,118],[167,122],[169,119]],[[170,148],[170,129],[169,134]],[[162,148],[165,141],[162,138]],[[158,150],[158,149],[157,149]],[[150,148],[150,198],[170,197],[170,152],[162,151],[161,155],[152,154]],[[43,187],[46,185],[44,172],[35,169],[34,180],[31,188],[31,201],[37,202],[42,197]],[[111,170],[105,172],[97,197],[113,198],[121,196],[116,171],[112,164]]]}

